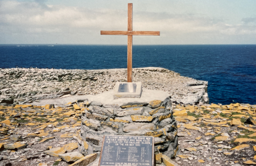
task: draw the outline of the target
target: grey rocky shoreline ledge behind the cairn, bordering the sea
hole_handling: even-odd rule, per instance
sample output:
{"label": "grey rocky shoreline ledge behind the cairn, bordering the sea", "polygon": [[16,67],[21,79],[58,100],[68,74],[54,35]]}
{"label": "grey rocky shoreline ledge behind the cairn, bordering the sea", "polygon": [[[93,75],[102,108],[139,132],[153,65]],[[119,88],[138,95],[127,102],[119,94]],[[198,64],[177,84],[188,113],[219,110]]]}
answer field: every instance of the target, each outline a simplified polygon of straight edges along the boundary
{"label": "grey rocky shoreline ledge behind the cairn, bordering the sea", "polygon": [[[133,69],[133,82],[143,89],[162,90],[175,104],[208,104],[207,81],[180,76],[168,69]],[[70,95],[96,95],[126,82],[127,69],[0,69],[0,104],[18,105]],[[40,103],[38,103],[40,104]]]}

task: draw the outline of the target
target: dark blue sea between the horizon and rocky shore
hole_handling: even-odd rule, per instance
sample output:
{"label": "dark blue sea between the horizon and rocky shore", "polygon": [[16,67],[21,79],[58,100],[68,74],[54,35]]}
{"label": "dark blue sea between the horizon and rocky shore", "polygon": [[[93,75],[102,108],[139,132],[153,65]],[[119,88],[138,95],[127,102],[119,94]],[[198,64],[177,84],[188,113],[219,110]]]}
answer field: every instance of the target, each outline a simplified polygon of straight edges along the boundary
{"label": "dark blue sea between the horizon and rocky shore", "polygon": [[[126,45],[0,45],[0,68],[127,68]],[[210,102],[256,104],[256,45],[134,45],[133,68],[208,81]]]}

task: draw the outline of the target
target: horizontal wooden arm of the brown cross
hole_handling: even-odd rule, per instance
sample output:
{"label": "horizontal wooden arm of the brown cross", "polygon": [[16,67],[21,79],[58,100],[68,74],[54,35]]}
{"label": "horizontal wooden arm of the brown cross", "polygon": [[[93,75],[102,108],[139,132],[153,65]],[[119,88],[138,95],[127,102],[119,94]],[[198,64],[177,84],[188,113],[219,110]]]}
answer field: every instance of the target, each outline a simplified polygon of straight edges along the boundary
{"label": "horizontal wooden arm of the brown cross", "polygon": [[101,35],[153,35],[153,36],[160,36],[160,31],[105,31],[105,30],[101,30]]}

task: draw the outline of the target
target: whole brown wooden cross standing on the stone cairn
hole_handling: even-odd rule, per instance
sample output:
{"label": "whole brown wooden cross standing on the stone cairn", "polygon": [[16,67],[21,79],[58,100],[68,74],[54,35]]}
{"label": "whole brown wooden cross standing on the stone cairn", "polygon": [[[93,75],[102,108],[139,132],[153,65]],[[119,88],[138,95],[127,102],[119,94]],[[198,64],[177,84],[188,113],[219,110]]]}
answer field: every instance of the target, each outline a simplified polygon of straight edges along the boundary
{"label": "whole brown wooden cross standing on the stone cairn", "polygon": [[128,3],[128,30],[127,31],[104,31],[101,35],[127,35],[127,82],[132,82],[132,35],[160,36],[160,31],[132,31],[132,3]]}

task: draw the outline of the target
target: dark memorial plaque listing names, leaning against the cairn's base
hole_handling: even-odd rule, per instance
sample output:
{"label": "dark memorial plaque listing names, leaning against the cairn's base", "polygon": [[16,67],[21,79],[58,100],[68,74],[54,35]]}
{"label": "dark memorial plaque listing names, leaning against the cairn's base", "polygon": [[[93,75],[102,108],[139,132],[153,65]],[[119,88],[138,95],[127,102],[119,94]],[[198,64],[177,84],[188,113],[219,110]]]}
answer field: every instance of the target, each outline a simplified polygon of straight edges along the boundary
{"label": "dark memorial plaque listing names, leaning against the cairn's base", "polygon": [[104,136],[99,166],[154,166],[154,137]]}

